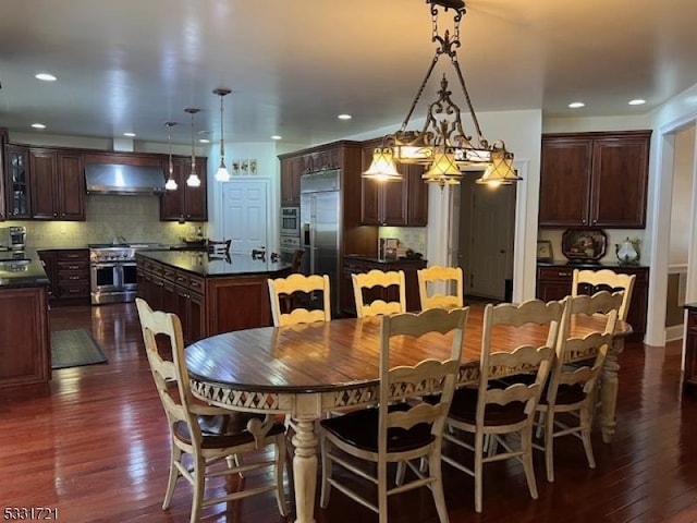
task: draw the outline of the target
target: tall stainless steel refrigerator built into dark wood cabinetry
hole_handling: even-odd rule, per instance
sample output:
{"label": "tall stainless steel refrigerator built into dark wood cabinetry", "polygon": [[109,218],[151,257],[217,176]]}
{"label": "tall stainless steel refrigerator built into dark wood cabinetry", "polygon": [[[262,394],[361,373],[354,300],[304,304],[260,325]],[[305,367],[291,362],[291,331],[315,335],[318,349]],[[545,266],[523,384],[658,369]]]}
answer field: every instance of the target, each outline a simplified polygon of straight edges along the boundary
{"label": "tall stainless steel refrigerator built into dark wood cabinetry", "polygon": [[334,312],[339,312],[340,186],[339,169],[301,178],[301,241],[305,250],[301,270],[304,275],[329,276]]}

